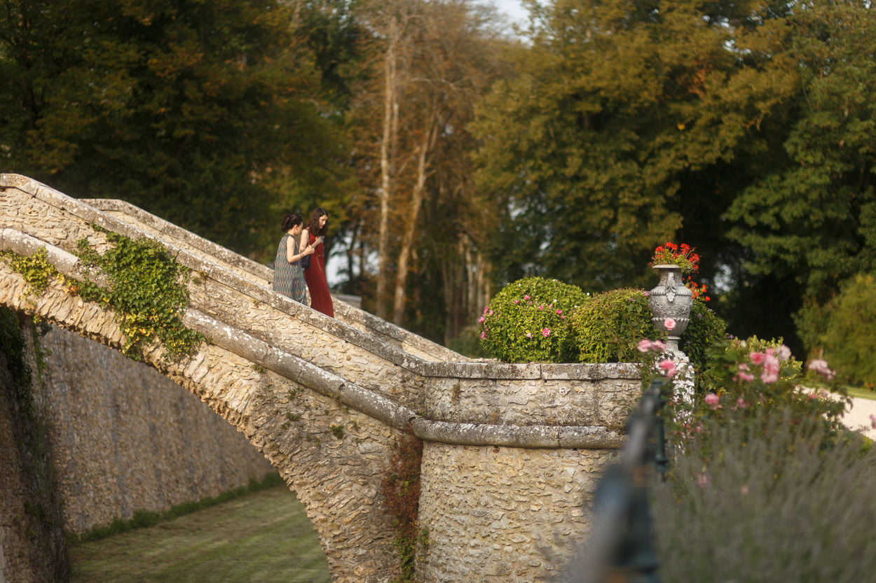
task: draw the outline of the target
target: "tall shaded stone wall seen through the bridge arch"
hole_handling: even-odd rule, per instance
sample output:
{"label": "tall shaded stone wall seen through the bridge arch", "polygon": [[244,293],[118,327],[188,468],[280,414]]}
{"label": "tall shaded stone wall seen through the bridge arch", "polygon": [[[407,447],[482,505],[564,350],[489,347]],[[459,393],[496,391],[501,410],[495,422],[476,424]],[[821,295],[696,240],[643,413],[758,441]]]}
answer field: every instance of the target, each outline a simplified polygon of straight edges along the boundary
{"label": "tall shaded stone wall seen through the bridge arch", "polygon": [[157,370],[59,327],[39,342],[68,532],[219,495],[273,471],[244,435]]}

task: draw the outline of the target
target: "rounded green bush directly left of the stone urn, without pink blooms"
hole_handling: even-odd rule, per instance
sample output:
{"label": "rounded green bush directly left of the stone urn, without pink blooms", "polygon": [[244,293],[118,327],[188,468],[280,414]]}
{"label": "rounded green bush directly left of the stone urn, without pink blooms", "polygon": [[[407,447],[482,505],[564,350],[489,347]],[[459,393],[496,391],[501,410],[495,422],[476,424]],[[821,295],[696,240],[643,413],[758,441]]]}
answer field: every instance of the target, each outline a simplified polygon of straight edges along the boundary
{"label": "rounded green bush directly left of the stone urn, without pink blooms", "polygon": [[595,294],[571,320],[579,362],[639,362],[639,341],[661,334],[651,323],[646,292],[632,288]]}

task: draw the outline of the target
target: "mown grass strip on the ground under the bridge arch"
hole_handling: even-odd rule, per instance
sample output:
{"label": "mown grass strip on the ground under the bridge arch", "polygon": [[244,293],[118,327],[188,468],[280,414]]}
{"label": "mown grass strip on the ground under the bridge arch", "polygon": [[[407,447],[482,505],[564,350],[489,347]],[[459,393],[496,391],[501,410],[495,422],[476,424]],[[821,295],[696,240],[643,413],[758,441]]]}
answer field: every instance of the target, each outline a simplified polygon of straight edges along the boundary
{"label": "mown grass strip on the ground under the bridge arch", "polygon": [[70,549],[71,583],[329,583],[304,507],[285,486]]}

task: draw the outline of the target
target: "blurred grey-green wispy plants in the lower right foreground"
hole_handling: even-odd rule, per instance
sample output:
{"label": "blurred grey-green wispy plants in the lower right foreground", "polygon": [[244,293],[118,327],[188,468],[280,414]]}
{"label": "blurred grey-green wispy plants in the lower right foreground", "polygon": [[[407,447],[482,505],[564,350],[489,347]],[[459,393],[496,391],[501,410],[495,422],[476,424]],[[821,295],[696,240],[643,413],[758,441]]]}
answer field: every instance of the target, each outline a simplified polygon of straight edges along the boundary
{"label": "blurred grey-green wispy plants in the lower right foreground", "polygon": [[[876,451],[865,449],[858,436],[830,438],[817,415],[795,422],[781,408],[756,425],[705,425],[677,444],[668,481],[653,486],[661,578],[872,577]],[[691,549],[692,541],[694,551],[679,551]]]}

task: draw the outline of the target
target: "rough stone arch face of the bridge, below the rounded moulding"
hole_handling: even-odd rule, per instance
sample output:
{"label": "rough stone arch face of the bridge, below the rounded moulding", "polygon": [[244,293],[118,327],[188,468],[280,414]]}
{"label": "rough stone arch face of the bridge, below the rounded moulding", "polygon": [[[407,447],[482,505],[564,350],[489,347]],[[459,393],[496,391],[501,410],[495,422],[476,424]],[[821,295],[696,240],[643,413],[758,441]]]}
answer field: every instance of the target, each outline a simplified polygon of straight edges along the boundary
{"label": "rough stone arch face of the bridge, below the rounded moulding", "polygon": [[[27,297],[23,278],[3,266],[0,281],[0,303],[121,348],[112,313],[57,284],[29,306],[20,300]],[[386,578],[394,533],[379,490],[397,430],[215,345],[180,362],[165,362],[155,349],[145,361],[200,397],[278,468],[307,509],[336,581]]]}

